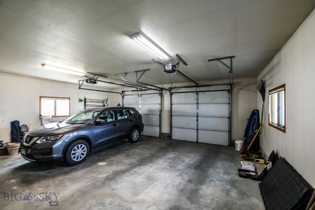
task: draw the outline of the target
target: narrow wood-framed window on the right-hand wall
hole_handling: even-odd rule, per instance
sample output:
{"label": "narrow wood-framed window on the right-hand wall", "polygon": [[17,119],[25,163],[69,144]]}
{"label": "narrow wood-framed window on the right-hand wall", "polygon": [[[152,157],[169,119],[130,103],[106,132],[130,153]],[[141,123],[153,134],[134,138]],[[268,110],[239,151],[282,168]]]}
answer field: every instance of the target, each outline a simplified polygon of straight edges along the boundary
{"label": "narrow wood-framed window on the right-hand wall", "polygon": [[285,133],[285,84],[269,90],[269,125]]}

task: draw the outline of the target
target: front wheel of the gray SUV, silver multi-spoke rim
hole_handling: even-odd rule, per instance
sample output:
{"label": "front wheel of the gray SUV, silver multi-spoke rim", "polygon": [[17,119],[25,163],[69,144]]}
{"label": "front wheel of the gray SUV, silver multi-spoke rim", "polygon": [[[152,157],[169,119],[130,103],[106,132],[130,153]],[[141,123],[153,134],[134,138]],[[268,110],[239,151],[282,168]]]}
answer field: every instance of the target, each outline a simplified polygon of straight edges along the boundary
{"label": "front wheel of the gray SUV, silver multi-spoke rim", "polygon": [[89,144],[86,141],[78,140],[70,144],[66,150],[65,159],[68,164],[76,165],[84,162],[89,155]]}

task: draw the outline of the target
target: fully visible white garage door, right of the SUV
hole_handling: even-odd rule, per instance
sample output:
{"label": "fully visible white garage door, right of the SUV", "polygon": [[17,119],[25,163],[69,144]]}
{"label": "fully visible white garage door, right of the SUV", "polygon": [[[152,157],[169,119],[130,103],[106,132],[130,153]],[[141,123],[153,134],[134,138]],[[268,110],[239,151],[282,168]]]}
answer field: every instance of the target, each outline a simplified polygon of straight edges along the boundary
{"label": "fully visible white garage door, right of the SUV", "polygon": [[172,138],[228,145],[229,93],[173,93]]}

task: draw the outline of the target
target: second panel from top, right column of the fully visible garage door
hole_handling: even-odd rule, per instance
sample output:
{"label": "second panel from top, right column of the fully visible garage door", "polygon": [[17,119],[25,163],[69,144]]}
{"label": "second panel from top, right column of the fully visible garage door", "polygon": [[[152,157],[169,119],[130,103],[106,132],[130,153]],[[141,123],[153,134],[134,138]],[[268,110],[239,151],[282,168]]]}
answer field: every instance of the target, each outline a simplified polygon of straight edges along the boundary
{"label": "second panel from top, right column of the fully visible garage door", "polygon": [[228,117],[228,104],[199,104],[200,117]]}

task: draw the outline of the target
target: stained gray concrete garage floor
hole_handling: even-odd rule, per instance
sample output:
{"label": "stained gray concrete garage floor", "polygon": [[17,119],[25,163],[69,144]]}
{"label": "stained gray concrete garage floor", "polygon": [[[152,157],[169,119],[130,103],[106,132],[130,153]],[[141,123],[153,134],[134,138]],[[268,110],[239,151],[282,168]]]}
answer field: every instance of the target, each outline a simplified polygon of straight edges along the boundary
{"label": "stained gray concrete garage floor", "polygon": [[234,147],[147,136],[100,148],[76,166],[1,155],[0,209],[264,210],[258,181],[240,178],[238,168]]}

